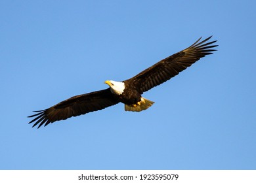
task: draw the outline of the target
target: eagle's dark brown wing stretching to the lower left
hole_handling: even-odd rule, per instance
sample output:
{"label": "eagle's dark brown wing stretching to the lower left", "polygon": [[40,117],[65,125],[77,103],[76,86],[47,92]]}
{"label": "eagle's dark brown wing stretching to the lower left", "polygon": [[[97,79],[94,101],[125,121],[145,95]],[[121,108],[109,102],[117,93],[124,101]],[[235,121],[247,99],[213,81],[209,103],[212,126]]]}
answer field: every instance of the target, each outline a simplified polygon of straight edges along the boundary
{"label": "eagle's dark brown wing stretching to the lower left", "polygon": [[116,105],[117,103],[119,103],[119,101],[110,92],[110,88],[108,88],[106,90],[71,97],[53,107],[35,111],[37,114],[28,117],[35,117],[30,124],[35,122],[33,127],[39,124],[39,128],[43,124],[46,126],[59,120],[66,120],[72,116],[79,116],[81,114],[100,110]]}

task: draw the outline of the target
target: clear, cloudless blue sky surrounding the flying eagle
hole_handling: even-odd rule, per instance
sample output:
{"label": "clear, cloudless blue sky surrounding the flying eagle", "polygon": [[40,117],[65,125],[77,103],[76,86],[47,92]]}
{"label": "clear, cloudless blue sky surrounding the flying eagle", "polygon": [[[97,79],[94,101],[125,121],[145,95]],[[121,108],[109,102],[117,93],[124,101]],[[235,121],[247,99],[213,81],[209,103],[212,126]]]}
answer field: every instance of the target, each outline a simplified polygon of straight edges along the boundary
{"label": "clear, cloudless blue sky surrounding the flying eagle", "polygon": [[[256,169],[254,1],[1,1],[0,169]],[[218,52],[123,104],[26,116],[125,80],[199,37]]]}

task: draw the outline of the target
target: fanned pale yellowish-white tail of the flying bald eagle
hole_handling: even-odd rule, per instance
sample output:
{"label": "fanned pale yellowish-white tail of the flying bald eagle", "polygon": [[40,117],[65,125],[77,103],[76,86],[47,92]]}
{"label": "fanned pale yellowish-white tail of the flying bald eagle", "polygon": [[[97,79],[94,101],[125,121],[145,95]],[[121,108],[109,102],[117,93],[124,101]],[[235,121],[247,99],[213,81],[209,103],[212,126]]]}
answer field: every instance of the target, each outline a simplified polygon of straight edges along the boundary
{"label": "fanned pale yellowish-white tail of the flying bald eagle", "polygon": [[126,105],[125,104],[125,111],[133,111],[133,112],[140,112],[141,110],[146,110],[148,107],[154,104],[153,101],[145,99],[141,97],[141,101],[135,105]]}

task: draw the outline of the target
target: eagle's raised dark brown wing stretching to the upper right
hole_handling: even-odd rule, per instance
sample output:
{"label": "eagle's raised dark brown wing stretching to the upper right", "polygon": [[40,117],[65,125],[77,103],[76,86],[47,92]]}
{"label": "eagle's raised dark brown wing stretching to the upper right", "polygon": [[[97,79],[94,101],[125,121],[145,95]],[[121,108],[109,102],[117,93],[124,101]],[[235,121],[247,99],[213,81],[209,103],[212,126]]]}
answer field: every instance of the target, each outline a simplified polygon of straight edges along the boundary
{"label": "eagle's raised dark brown wing stretching to the upper right", "polygon": [[[212,48],[217,46],[213,45],[216,41],[207,42],[211,37],[203,40],[202,42],[196,41],[190,47],[169,56],[168,58],[162,59],[158,63],[152,65],[148,69],[142,71],[138,75],[129,79],[135,87],[140,88],[140,93],[146,92],[151,88],[162,84],[170,78],[178,75],[181,71],[190,67],[192,63],[195,63],[200,58],[206,55],[212,54],[216,51]],[[199,42],[199,43],[198,43]]]}

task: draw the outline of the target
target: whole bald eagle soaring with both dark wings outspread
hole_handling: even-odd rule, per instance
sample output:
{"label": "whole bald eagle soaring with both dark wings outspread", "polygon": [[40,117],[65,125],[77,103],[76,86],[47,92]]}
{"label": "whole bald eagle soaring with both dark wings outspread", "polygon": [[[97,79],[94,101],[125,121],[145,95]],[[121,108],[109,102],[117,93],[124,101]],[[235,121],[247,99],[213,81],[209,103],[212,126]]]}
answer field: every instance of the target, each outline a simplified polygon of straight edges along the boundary
{"label": "whole bald eagle soaring with both dark wings outspread", "polygon": [[106,80],[105,83],[110,87],[105,90],[77,95],[45,110],[34,111],[37,114],[28,116],[29,118],[35,117],[29,124],[35,122],[33,127],[39,124],[39,128],[43,124],[46,126],[72,116],[101,110],[120,102],[124,103],[126,111],[146,110],[154,102],[142,97],[142,93],[171,79],[200,58],[216,51],[212,49],[218,46],[213,45],[216,41],[207,42],[211,37],[201,42],[200,39],[181,52],[162,59],[133,78],[121,82]]}

